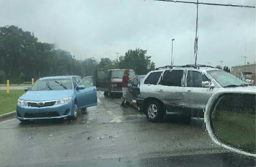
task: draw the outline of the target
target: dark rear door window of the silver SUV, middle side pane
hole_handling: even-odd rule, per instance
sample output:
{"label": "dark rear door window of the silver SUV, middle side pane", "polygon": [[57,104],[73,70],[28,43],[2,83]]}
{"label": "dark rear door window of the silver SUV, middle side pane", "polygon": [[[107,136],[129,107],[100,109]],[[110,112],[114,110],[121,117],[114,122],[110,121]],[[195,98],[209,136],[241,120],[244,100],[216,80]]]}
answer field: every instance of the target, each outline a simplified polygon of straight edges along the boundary
{"label": "dark rear door window of the silver SUV, middle side pane", "polygon": [[161,85],[181,87],[183,78],[183,70],[167,70],[160,82]]}

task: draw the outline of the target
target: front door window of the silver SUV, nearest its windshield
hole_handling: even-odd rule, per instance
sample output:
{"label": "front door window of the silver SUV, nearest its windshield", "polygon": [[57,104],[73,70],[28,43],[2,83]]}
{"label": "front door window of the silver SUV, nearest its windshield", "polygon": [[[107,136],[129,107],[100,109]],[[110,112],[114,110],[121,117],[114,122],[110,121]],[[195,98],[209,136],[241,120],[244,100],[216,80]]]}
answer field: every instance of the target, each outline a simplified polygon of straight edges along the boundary
{"label": "front door window of the silver SUV, nearest its windshield", "polygon": [[203,81],[209,81],[206,75],[198,71],[188,71],[187,87],[201,88]]}

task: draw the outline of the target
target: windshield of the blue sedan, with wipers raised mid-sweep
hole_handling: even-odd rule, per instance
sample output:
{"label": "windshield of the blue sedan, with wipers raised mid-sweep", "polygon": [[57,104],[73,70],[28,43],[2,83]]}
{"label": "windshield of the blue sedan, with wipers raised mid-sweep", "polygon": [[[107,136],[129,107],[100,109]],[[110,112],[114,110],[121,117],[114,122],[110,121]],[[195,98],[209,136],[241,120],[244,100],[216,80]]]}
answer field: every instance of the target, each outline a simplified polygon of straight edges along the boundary
{"label": "windshield of the blue sedan, with wipers raised mid-sweep", "polygon": [[72,89],[71,79],[42,79],[33,84],[31,91],[66,89]]}

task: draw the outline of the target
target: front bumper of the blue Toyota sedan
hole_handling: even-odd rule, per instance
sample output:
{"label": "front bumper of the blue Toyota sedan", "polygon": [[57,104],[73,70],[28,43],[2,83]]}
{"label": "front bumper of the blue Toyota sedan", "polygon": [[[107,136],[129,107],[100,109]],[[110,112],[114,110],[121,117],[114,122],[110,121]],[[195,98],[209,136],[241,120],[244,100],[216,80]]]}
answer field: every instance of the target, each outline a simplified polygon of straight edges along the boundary
{"label": "front bumper of the blue Toyota sedan", "polygon": [[27,105],[16,106],[17,119],[50,119],[63,118],[74,115],[74,101],[53,106],[31,107]]}

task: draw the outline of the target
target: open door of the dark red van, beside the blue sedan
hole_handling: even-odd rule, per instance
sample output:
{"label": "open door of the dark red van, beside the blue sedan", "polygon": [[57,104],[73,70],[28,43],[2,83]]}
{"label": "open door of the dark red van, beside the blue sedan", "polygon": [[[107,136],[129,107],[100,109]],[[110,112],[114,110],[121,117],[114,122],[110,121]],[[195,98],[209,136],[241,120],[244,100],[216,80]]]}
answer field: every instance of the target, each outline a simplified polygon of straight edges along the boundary
{"label": "open door of the dark red van, beside the blue sedan", "polygon": [[105,69],[96,69],[95,83],[97,91],[108,91],[110,88],[110,76]]}

